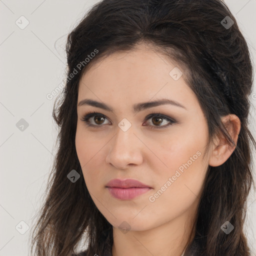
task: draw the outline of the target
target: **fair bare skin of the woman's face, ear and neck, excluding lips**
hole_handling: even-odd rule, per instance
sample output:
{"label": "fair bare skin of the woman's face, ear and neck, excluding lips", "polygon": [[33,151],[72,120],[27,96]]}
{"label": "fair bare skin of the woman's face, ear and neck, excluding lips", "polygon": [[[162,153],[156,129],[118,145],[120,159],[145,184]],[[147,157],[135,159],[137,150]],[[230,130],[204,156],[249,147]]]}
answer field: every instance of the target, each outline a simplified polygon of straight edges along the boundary
{"label": "fair bare skin of the woman's face, ear and neck, excluding lips", "polygon": [[[174,80],[169,75],[175,66],[143,45],[133,51],[111,54],[93,64],[79,82],[77,102],[90,98],[113,108],[107,111],[95,106],[77,106],[75,137],[87,189],[96,207],[113,226],[113,256],[180,256],[190,232],[194,232],[192,223],[208,165],[222,164],[234,150],[219,136],[202,158],[208,140],[206,119],[183,76]],[[164,104],[137,113],[132,111],[135,103],[161,98],[176,100],[186,109]],[[87,111],[105,115],[102,120],[96,116],[89,119],[91,124],[101,127],[87,126],[81,120]],[[156,117],[145,120],[152,112],[167,115],[176,123],[157,128],[157,124],[164,126],[169,122],[155,120]],[[126,131],[118,126],[123,118],[131,123]],[[223,122],[228,120],[227,128],[236,142],[239,119],[233,114],[223,117]],[[167,188],[160,196],[150,201],[149,196],[161,189],[196,152],[198,157],[193,158],[189,167],[179,171],[174,182],[165,185]],[[152,189],[130,200],[117,199],[105,187],[113,178],[134,178]],[[124,225],[123,221],[128,223],[125,232],[118,228]]]}

